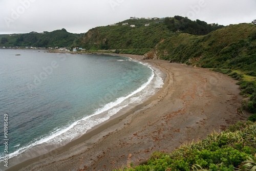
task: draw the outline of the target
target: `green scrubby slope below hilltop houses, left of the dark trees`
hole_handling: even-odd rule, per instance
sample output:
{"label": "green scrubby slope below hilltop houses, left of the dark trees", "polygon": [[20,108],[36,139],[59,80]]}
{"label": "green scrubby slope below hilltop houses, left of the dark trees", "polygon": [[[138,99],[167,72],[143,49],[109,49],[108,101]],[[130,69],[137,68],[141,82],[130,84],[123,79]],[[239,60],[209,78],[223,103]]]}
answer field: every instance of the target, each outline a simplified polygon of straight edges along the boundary
{"label": "green scrubby slope below hilltop houses, left of the dark trees", "polygon": [[[91,29],[84,34],[80,46],[85,49],[144,49],[150,51],[162,39],[172,36],[163,20],[124,20],[118,26]],[[123,23],[128,25],[122,26]],[[150,26],[145,27],[145,24]],[[130,27],[135,25],[136,27]]]}

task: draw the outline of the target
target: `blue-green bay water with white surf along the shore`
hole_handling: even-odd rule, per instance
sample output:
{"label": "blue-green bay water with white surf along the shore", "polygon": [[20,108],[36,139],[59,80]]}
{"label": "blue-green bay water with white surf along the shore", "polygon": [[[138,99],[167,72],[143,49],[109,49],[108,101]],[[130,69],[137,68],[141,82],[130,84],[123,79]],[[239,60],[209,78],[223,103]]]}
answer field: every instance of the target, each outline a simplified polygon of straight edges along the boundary
{"label": "blue-green bay water with white surf along the shore", "polygon": [[142,103],[162,74],[121,56],[0,49],[1,167],[6,155],[10,164],[37,152],[17,164],[47,153]]}

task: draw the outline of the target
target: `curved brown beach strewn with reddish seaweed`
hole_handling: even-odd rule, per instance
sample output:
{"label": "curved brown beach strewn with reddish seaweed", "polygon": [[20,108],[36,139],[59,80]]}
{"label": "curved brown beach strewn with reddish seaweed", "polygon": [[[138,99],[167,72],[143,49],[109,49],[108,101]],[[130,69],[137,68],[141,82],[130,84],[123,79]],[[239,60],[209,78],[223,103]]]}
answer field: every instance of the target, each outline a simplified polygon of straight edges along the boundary
{"label": "curved brown beach strewn with reddish seaweed", "polygon": [[[142,56],[125,55],[141,60]],[[10,170],[111,170],[145,162],[153,152],[170,153],[246,120],[236,109],[242,96],[235,80],[209,69],[165,60],[143,60],[166,74],[163,88],[130,112],[117,114],[81,138]]]}

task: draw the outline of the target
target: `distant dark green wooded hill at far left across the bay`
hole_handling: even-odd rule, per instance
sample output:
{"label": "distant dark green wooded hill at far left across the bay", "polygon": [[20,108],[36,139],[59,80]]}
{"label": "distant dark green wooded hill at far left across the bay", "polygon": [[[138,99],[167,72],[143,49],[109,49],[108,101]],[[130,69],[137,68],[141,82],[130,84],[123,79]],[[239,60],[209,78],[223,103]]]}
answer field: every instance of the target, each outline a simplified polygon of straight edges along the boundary
{"label": "distant dark green wooded hill at far left across the bay", "polygon": [[79,34],[73,34],[66,29],[52,32],[30,32],[25,34],[11,34],[1,36],[0,46],[5,47],[69,47]]}

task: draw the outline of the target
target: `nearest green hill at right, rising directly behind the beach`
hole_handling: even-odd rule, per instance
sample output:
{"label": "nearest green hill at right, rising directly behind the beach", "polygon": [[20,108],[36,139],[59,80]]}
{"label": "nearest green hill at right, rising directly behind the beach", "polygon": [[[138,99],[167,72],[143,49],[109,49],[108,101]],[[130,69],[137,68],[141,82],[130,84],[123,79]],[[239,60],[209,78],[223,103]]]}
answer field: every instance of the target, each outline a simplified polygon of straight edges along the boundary
{"label": "nearest green hill at right, rising directly behind the beach", "polygon": [[176,34],[148,54],[149,58],[153,56],[205,68],[241,70],[256,76],[256,26],[230,25],[204,36]]}

